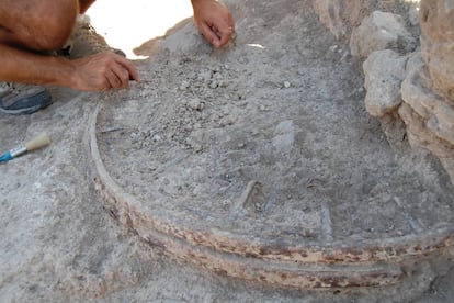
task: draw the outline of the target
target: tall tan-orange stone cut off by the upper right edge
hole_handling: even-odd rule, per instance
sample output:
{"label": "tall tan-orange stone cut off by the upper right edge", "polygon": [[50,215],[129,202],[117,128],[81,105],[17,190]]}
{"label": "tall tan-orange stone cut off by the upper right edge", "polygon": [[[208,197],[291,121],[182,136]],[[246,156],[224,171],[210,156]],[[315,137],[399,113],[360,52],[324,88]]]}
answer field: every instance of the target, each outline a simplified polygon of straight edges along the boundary
{"label": "tall tan-orange stone cut off by the upper right edge", "polygon": [[421,48],[434,88],[454,102],[454,0],[422,0]]}

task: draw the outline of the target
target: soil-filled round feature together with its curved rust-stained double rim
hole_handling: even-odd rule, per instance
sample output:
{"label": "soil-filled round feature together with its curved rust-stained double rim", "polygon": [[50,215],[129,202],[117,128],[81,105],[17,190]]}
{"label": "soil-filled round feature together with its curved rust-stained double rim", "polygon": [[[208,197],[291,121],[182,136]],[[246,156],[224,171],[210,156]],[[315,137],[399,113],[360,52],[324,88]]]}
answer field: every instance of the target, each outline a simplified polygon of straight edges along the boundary
{"label": "soil-filled round feature together with its curved rust-stained double rim", "polygon": [[103,97],[90,145],[106,211],[189,262],[293,288],[394,284],[450,249],[439,160],[389,145],[355,59],[305,1],[252,2],[227,49],[186,24],[141,82]]}

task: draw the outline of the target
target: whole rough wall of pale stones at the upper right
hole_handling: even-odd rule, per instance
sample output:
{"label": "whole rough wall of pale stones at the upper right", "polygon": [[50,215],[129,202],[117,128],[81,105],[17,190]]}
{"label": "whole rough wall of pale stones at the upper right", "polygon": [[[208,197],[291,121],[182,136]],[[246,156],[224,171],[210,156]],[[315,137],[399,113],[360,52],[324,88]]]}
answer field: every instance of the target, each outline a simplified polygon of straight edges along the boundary
{"label": "whole rough wall of pale stones at the upper right", "polygon": [[454,0],[382,2],[313,7],[363,63],[367,112],[385,131],[405,123],[410,145],[435,155],[454,182]]}

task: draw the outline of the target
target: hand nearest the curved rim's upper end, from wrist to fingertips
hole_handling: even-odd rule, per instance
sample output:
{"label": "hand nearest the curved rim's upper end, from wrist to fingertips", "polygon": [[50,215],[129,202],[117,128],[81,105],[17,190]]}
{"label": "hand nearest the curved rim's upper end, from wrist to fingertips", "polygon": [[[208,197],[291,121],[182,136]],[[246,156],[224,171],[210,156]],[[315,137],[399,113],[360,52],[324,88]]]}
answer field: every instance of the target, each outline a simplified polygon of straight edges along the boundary
{"label": "hand nearest the curved rim's upper end, from wrist to fingertips", "polygon": [[113,53],[100,53],[70,61],[73,66],[71,87],[82,91],[126,88],[129,80],[139,81],[133,63]]}

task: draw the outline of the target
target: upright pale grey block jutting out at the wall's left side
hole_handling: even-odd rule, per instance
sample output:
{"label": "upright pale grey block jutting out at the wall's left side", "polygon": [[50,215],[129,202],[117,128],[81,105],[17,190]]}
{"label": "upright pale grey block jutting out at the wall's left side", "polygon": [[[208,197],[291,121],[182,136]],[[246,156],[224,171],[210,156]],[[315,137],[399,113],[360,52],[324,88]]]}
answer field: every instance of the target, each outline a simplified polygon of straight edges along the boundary
{"label": "upright pale grey block jutting out at the wall's left side", "polygon": [[400,83],[406,76],[407,60],[408,56],[385,49],[372,53],[364,61],[365,105],[370,114],[381,117],[400,105]]}

